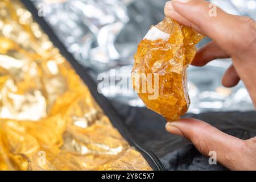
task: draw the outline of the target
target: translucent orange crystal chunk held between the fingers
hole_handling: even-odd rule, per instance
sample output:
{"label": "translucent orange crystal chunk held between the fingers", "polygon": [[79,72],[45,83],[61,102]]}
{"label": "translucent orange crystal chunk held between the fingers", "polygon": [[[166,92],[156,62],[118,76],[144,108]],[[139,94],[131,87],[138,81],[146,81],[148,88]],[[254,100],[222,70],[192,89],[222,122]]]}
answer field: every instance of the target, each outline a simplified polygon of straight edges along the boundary
{"label": "translucent orange crystal chunk held between the fingers", "polygon": [[133,87],[148,109],[167,121],[179,119],[188,110],[187,67],[202,38],[166,17],[138,45],[131,72]]}

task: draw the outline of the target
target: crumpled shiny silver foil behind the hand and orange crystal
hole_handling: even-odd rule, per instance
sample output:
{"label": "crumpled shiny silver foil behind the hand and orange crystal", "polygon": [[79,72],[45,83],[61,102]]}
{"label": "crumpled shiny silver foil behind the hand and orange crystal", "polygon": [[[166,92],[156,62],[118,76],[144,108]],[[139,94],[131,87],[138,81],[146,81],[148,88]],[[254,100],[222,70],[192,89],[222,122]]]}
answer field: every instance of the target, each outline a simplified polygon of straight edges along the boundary
{"label": "crumpled shiny silver foil behind the hand and orange crystal", "polygon": [[[115,80],[130,84],[130,72],[137,45],[152,24],[160,22],[166,0],[31,0],[38,13],[47,20],[58,38],[79,63],[90,68],[94,80],[106,73]],[[212,2],[225,11],[256,18],[255,0]],[[209,42],[204,39],[199,46]],[[189,67],[188,90],[191,98],[189,112],[253,110],[245,86],[221,86],[221,77],[230,60],[216,60],[203,68]],[[112,69],[115,74],[112,74]],[[131,106],[144,106],[131,86],[120,89],[117,82],[99,90],[110,100]]]}

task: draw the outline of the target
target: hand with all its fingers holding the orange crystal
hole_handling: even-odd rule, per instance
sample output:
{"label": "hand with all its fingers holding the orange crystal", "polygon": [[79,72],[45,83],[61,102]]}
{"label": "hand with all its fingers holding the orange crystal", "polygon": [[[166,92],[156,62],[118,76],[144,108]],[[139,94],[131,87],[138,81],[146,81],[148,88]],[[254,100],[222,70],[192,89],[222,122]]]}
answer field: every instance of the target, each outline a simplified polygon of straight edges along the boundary
{"label": "hand with all its fingers holding the orange crystal", "polygon": [[[207,1],[173,0],[166,3],[164,14],[213,40],[197,51],[192,65],[201,67],[214,59],[231,57],[233,64],[222,84],[232,87],[242,80],[256,106],[256,22],[219,8],[217,16],[210,17],[209,10]],[[218,163],[229,169],[256,170],[256,137],[241,140],[193,118],[167,123],[166,130],[191,140],[204,155],[216,151]]]}

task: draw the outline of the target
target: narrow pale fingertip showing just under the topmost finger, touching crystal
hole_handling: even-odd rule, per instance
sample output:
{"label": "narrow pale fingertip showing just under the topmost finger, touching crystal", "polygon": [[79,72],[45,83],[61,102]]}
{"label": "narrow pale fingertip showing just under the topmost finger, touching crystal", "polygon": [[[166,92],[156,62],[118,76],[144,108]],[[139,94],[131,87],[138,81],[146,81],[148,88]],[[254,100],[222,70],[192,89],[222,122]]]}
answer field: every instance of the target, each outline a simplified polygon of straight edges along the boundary
{"label": "narrow pale fingertip showing just under the topmost finger, touching crystal", "polygon": [[184,26],[191,27],[197,32],[204,34],[204,32],[202,32],[202,30],[196,26],[196,24],[190,22],[187,18],[184,18],[184,16],[181,16],[179,13],[177,13],[177,11],[174,10],[172,1],[166,2],[166,6],[164,6],[164,14],[168,17],[171,17],[172,19],[175,19],[177,22],[183,24]]}

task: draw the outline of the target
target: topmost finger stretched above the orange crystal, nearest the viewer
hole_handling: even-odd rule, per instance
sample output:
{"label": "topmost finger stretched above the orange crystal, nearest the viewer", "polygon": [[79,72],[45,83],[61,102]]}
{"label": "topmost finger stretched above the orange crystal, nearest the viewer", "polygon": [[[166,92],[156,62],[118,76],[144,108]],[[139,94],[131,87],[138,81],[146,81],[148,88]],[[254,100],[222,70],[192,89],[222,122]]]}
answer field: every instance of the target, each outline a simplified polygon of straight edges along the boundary
{"label": "topmost finger stretched above the orange crystal, nearest the viewer", "polygon": [[216,41],[218,46],[230,51],[230,41],[233,42],[237,36],[236,32],[230,30],[237,29],[240,21],[237,16],[227,14],[204,0],[173,0],[172,6],[178,14],[199,27],[200,32]]}

